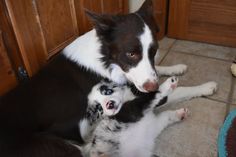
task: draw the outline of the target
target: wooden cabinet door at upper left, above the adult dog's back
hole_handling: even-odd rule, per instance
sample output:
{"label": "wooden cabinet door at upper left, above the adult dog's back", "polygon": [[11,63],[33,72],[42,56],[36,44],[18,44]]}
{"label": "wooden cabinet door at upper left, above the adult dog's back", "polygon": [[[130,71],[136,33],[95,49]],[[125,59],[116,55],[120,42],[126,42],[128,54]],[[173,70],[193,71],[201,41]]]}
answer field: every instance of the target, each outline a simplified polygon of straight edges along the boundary
{"label": "wooden cabinet door at upper left, above the adult dog's back", "polygon": [[5,2],[30,76],[78,36],[74,0]]}

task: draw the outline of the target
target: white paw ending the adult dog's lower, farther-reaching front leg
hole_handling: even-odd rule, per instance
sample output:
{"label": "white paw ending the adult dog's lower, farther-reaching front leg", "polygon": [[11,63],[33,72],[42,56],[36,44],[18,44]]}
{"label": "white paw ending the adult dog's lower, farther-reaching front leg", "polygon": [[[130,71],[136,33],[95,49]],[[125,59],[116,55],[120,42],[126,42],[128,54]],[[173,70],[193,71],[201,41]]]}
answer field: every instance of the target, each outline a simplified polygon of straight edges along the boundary
{"label": "white paw ending the adult dog's lower, farther-reaching front leg", "polygon": [[217,83],[214,81],[204,83],[200,86],[202,96],[209,96],[217,91]]}

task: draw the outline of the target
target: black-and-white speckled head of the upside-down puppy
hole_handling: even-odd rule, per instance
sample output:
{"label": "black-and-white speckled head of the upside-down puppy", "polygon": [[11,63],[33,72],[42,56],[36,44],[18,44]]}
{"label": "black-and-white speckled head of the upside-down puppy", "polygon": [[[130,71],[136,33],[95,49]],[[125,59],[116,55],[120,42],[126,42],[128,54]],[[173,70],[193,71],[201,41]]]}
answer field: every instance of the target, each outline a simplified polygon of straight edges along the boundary
{"label": "black-and-white speckled head of the upside-down puppy", "polygon": [[89,104],[100,104],[104,115],[116,115],[124,104],[125,88],[111,82],[101,82],[92,88],[88,96]]}

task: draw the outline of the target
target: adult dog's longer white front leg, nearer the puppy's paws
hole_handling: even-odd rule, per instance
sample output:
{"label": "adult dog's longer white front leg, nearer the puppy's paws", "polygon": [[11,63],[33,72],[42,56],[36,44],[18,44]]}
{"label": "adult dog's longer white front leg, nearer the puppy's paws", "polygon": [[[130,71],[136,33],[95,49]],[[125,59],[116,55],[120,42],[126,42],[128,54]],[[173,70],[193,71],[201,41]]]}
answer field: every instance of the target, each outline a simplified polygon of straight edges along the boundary
{"label": "adult dog's longer white front leg, nearer the puppy's paws", "polygon": [[207,82],[192,87],[177,87],[168,97],[167,104],[189,100],[195,97],[209,96],[217,90],[216,82]]}

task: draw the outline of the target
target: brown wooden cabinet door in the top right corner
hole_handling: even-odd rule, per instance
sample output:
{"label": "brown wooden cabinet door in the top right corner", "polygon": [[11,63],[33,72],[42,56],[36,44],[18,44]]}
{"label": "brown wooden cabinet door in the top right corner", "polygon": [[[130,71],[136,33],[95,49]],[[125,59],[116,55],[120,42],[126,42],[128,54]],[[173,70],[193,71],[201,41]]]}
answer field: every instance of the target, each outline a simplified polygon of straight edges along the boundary
{"label": "brown wooden cabinet door in the top right corner", "polygon": [[236,47],[236,1],[170,0],[168,36]]}

